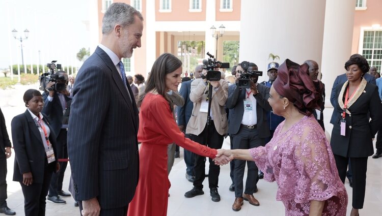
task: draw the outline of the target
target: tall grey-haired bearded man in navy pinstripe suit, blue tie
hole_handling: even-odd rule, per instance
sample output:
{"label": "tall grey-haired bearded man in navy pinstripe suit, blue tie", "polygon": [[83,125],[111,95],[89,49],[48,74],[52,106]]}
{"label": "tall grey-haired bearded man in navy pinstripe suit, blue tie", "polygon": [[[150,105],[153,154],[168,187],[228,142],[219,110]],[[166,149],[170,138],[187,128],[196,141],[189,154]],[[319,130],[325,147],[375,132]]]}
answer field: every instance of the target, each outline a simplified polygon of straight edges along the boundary
{"label": "tall grey-haired bearded man in navy pinstripe suit, blue tie", "polygon": [[125,216],[137,187],[139,116],[121,58],[141,47],[142,31],[140,12],[113,3],[102,20],[101,43],[76,76],[68,155],[71,193],[84,216]]}

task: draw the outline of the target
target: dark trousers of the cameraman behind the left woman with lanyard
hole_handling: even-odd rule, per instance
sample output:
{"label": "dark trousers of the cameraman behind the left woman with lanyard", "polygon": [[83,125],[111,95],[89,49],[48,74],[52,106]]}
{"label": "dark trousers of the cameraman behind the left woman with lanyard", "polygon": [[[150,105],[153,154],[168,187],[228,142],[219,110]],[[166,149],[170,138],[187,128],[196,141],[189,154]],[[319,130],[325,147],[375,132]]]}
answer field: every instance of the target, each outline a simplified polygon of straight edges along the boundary
{"label": "dark trousers of the cameraman behind the left woman with lanyard", "polygon": [[[59,136],[57,137],[56,153],[57,159],[67,159],[68,158],[68,148],[66,145],[66,135],[68,131],[66,129],[61,129]],[[58,173],[53,173],[52,179],[50,180],[49,186],[49,196],[58,196],[57,192],[62,191],[62,181],[64,180],[64,173],[68,162],[60,162],[60,171]]]}

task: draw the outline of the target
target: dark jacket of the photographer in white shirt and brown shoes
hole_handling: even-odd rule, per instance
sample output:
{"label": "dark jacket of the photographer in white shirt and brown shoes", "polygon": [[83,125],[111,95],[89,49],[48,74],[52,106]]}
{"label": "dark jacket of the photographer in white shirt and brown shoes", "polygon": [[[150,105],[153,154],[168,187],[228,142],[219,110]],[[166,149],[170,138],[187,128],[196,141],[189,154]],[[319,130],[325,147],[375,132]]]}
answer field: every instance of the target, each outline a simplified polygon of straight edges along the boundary
{"label": "dark jacket of the photographer in white shirt and brown shoes", "polygon": [[[260,138],[267,138],[270,136],[269,125],[266,118],[266,113],[272,110],[268,103],[269,87],[257,84],[259,93],[255,96],[256,99],[256,114],[257,114],[257,130]],[[239,89],[235,84],[230,85],[228,88],[228,99],[226,106],[229,111],[228,116],[228,134],[235,135],[239,132],[241,120],[244,114],[245,90]]]}

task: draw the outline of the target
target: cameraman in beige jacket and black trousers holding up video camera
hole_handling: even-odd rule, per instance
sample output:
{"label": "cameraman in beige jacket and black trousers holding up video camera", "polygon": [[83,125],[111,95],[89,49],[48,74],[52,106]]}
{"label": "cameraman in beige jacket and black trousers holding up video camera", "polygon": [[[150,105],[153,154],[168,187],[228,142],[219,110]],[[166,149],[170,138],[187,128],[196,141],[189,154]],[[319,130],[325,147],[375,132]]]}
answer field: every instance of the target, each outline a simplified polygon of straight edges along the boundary
{"label": "cameraman in beige jacket and black trousers holding up video camera", "polygon": [[[209,53],[207,53],[209,54]],[[210,55],[211,59],[213,58]],[[186,134],[190,134],[193,141],[207,145],[210,148],[219,149],[223,145],[224,135],[227,133],[228,121],[224,105],[228,97],[228,83],[221,79],[221,72],[215,71],[223,64],[218,64],[215,59],[208,60],[201,73],[202,78],[197,78],[191,83],[189,98],[194,102],[192,115],[188,121]],[[212,87],[210,87],[210,85]],[[211,91],[209,91],[211,89]],[[209,94],[211,93],[211,94]],[[211,95],[211,98],[209,98]],[[207,121],[208,105],[210,104],[210,117]],[[195,158],[194,188],[184,194],[191,198],[204,194],[203,180],[205,178],[205,157],[196,155]],[[219,202],[220,195],[217,192],[220,167],[209,159],[208,182],[212,201]]]}

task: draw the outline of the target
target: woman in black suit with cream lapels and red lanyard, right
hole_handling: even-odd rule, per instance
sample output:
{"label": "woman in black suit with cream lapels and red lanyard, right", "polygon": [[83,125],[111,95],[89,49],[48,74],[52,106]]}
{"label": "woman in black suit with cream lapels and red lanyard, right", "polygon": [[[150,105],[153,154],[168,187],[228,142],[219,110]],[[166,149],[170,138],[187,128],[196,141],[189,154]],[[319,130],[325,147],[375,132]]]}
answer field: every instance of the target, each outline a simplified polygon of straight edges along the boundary
{"label": "woman in black suit with cream lapels and red lanyard, right", "polygon": [[373,155],[372,139],[381,124],[382,106],[376,85],[363,78],[369,71],[367,60],[362,56],[350,58],[345,69],[347,81],[336,88],[334,112],[339,115],[333,127],[331,146],[342,182],[345,182],[350,159],[353,171],[350,215],[359,215],[358,209],[363,208],[365,199],[367,158]]}

